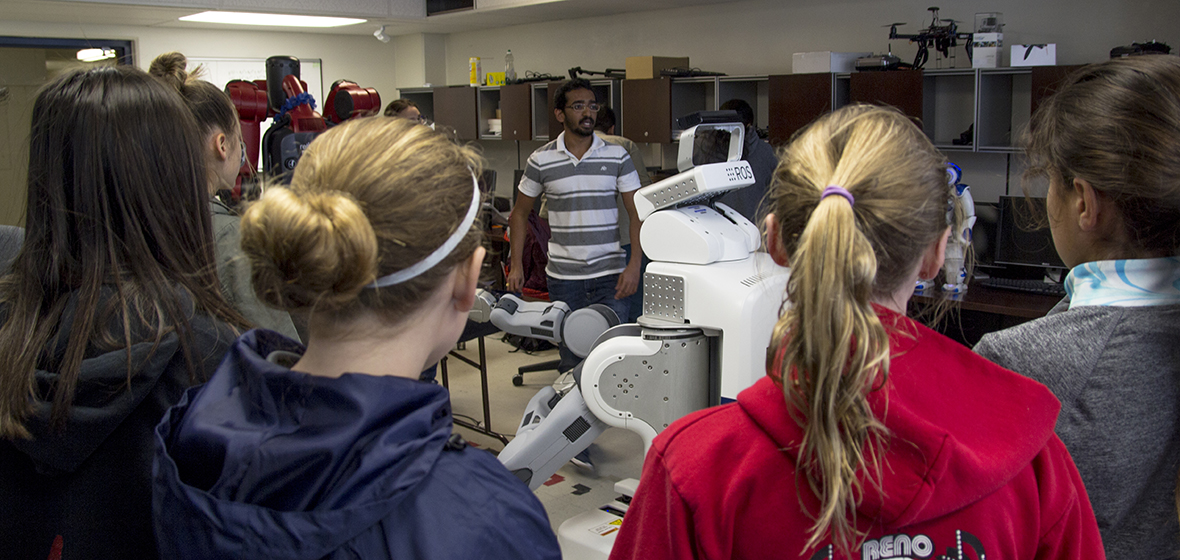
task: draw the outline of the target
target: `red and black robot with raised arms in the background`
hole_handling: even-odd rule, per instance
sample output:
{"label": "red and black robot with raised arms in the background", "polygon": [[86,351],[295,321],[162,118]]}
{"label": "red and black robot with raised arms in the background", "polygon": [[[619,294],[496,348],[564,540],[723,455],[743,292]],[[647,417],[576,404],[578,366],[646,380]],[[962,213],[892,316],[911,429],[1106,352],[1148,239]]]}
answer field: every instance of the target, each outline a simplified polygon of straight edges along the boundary
{"label": "red and black robot with raised arms in the background", "polygon": [[[249,183],[256,174],[254,164],[260,149],[264,173],[286,183],[303,150],[320,133],[345,120],[381,112],[376,90],[339,80],[332,85],[323,114],[319,113],[307,83],[300,79],[300,61],[295,57],[268,58],[267,79],[232,80],[225,85],[225,93],[237,108],[245,145],[245,164],[238,170],[232,193],[235,202],[243,198],[243,191],[251,190]],[[262,121],[269,118],[274,121],[262,134]]]}

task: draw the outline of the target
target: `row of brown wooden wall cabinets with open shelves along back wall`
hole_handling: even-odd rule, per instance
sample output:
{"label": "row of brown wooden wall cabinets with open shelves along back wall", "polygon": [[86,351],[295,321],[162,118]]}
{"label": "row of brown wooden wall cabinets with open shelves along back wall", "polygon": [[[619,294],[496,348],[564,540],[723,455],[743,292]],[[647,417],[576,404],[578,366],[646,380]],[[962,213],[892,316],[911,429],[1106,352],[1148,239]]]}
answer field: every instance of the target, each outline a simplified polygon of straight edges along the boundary
{"label": "row of brown wooden wall cabinets with open shelves along back wall", "polygon": [[[678,140],[675,119],[714,111],[728,99],[754,107],[771,144],[782,145],[818,117],[850,103],[892,105],[914,119],[938,149],[1020,152],[1020,133],[1042,99],[1080,66],[948,68],[779,74],[771,77],[590,80],[599,103],[615,108],[616,133],[634,141]],[[553,92],[562,81],[498,87],[451,86],[401,90],[401,97],[464,140],[550,140],[564,130]],[[499,110],[503,132],[487,120]]]}

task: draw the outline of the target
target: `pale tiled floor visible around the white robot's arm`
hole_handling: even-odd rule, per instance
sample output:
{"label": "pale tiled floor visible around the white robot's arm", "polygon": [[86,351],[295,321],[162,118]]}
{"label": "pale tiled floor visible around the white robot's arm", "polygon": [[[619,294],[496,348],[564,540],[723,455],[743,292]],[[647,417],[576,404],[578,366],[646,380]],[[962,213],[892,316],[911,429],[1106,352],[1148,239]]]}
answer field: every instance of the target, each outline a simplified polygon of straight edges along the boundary
{"label": "pale tiled floor visible around the white robot's arm", "polygon": [[[492,430],[509,439],[516,433],[524,408],[529,400],[542,387],[557,381],[556,371],[525,374],[524,386],[512,386],[512,376],[520,365],[533,364],[557,358],[557,350],[546,350],[533,355],[514,350],[500,341],[502,334],[485,338],[487,356],[487,389],[491,403]],[[459,354],[479,360],[478,342],[470,341]],[[455,416],[468,416],[483,423],[480,407],[479,371],[459,360],[447,361],[451,402]],[[441,382],[441,374],[440,380]],[[485,447],[493,453],[504,448],[504,443],[455,426],[455,431],[467,441]],[[621,479],[638,479],[643,467],[643,442],[640,436],[618,428],[609,428],[590,446],[590,459],[594,469],[584,469],[565,465],[545,486],[537,489],[537,498],[545,506],[553,531],[569,518],[595,509],[615,499],[615,482]]]}

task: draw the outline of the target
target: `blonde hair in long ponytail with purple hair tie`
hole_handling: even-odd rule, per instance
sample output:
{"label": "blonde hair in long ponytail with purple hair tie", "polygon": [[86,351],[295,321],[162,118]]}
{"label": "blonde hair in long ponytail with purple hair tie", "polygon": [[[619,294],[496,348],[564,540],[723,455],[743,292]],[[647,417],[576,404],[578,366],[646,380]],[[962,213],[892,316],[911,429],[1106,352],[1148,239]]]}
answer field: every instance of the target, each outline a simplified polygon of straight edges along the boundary
{"label": "blonde hair in long ponytail with purple hair tie", "polygon": [[[767,235],[789,258],[791,305],[774,328],[767,368],[804,430],[799,474],[820,501],[808,548],[825,538],[854,548],[863,539],[857,505],[865,492],[881,492],[889,434],[867,396],[887,380],[890,335],[872,302],[900,288],[945,231],[945,177],[913,124],[870,106],[813,124],[775,171],[779,228]],[[822,197],[828,185],[854,202]]]}

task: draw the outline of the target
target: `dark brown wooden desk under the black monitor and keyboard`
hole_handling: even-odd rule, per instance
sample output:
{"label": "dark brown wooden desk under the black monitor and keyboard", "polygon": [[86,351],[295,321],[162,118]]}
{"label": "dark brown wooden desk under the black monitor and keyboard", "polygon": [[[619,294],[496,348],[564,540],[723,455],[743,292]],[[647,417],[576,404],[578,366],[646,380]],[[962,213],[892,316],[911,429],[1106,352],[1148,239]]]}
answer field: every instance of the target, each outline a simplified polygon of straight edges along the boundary
{"label": "dark brown wooden desk under the black monitor and keyboard", "polygon": [[[910,316],[922,321],[923,312],[932,309],[939,299],[940,295],[913,296],[910,298]],[[957,294],[950,299],[956,303],[946,317],[935,324],[924,322],[968,347],[974,347],[988,332],[1043,317],[1061,301],[1055,296],[999,290],[974,283],[968,286],[966,294]]]}

